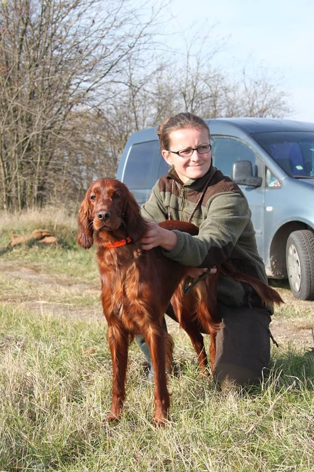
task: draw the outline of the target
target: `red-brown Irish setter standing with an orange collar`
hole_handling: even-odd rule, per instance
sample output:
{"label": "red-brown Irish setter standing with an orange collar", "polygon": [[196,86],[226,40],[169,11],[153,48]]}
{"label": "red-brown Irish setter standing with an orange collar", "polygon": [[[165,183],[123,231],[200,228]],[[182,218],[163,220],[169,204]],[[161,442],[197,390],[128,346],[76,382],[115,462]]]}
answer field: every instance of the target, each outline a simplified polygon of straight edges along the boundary
{"label": "red-brown Irish setter standing with an orange collar", "polygon": [[[164,221],[160,225],[191,235],[198,233],[197,227],[190,223]],[[265,303],[280,303],[282,299],[258,279],[224,265],[218,268],[217,274],[209,274],[184,295],[183,280],[188,267],[164,257],[159,247],[141,250],[139,241],[146,229],[147,223],[126,185],[111,178],[90,185],[78,213],[78,243],[88,249],[95,241],[98,248],[101,299],[113,367],[108,419],[117,420],[122,413],[128,346],[134,335],[141,334],[149,346],[154,369],[154,420],[156,425],[162,425],[169,411],[166,359],[170,362],[173,344],[162,326],[162,319],[170,300],[204,372],[207,356],[199,324],[210,334],[213,368],[215,334],[219,329],[216,300],[219,271],[227,274],[230,271],[231,277],[250,283]]]}

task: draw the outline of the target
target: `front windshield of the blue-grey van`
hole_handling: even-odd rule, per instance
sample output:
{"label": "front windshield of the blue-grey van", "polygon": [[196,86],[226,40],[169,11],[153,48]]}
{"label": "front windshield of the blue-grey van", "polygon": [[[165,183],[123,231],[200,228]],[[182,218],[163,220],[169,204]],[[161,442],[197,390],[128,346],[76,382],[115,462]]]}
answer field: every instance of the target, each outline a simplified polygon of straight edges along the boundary
{"label": "front windshield of the blue-grey van", "polygon": [[289,177],[314,177],[314,132],[274,131],[252,137]]}

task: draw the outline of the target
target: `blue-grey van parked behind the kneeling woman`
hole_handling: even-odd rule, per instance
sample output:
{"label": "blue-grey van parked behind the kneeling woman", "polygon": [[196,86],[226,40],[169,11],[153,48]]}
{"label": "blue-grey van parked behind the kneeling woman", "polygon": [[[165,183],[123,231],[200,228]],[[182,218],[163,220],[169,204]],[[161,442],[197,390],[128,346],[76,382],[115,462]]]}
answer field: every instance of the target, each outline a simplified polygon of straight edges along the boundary
{"label": "blue-grey van parked behind the kneeling woman", "polygon": [[[268,277],[288,277],[296,298],[314,300],[314,123],[207,119],[213,165],[232,177],[252,211]],[[139,204],[167,173],[156,128],[129,138],[117,178]]]}

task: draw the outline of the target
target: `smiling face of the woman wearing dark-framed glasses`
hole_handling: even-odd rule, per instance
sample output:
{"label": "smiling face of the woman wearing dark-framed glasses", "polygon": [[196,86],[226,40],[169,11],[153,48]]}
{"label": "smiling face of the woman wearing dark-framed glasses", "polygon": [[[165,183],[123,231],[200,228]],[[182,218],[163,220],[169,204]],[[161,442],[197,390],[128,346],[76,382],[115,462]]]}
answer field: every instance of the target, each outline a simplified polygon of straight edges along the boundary
{"label": "smiling face of the woman wearing dark-framed glasses", "polygon": [[[198,148],[209,145],[209,133],[206,129],[182,128],[170,133],[170,150],[181,151],[186,148]],[[190,178],[203,177],[211,164],[211,153],[200,154],[197,150],[189,157],[181,157],[178,154],[162,150],[162,156],[167,164],[174,167],[183,183]]]}

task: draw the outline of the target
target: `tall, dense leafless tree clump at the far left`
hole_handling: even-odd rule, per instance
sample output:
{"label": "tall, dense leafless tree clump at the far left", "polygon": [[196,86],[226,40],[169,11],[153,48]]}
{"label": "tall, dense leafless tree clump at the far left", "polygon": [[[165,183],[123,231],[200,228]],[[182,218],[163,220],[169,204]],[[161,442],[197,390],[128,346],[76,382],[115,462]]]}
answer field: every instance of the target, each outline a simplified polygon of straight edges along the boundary
{"label": "tall, dense leafless tree clump at the far left", "polygon": [[128,60],[152,44],[159,10],[140,11],[129,0],[0,2],[1,207],[47,200],[75,114],[113,96]]}

